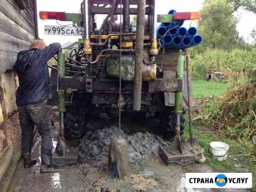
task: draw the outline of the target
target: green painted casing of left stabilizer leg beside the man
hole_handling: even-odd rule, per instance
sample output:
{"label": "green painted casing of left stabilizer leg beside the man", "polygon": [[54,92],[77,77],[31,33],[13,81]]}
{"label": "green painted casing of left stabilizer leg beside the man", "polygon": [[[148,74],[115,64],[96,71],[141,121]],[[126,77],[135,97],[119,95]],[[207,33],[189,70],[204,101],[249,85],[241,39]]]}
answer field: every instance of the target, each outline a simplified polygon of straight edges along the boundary
{"label": "green painted casing of left stabilizer leg beside the man", "polygon": [[[58,76],[65,77],[65,54],[62,49],[59,49],[59,62],[58,62]],[[58,77],[58,78],[59,78]],[[66,104],[65,104],[65,92],[64,90],[59,90],[59,112],[66,111]]]}

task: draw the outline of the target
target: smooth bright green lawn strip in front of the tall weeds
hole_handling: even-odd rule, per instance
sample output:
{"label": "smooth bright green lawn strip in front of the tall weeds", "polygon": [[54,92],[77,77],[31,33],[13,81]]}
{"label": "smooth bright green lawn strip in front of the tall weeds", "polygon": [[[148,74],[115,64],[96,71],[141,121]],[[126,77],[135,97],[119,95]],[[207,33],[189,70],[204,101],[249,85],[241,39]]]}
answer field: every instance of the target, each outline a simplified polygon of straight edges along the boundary
{"label": "smooth bright green lawn strip in front of the tall weeds", "polygon": [[195,99],[221,96],[229,85],[220,81],[192,80],[192,91]]}

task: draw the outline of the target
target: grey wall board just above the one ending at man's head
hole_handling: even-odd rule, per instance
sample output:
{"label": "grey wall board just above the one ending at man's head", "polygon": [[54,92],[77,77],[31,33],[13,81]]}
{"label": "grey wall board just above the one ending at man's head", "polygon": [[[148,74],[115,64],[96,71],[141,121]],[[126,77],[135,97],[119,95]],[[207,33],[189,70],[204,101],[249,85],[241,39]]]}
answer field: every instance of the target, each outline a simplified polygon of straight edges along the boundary
{"label": "grey wall board just above the one ending at man's head", "polygon": [[3,13],[0,12],[0,31],[8,33],[14,37],[20,38],[24,41],[31,42],[35,37],[23,29],[21,26],[17,25],[14,21],[9,19]]}

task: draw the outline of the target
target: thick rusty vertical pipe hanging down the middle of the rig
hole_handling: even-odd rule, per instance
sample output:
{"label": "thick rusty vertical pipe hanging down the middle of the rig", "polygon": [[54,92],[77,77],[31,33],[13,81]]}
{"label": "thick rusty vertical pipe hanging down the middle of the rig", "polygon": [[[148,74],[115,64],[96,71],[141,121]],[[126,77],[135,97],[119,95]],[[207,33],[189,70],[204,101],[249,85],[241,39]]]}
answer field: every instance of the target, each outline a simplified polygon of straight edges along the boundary
{"label": "thick rusty vertical pipe hanging down the middle of the rig", "polygon": [[136,53],[135,53],[135,75],[133,89],[133,110],[140,111],[141,108],[141,89],[142,89],[142,62],[143,44],[145,28],[145,8],[146,0],[138,1],[137,27],[136,27]]}

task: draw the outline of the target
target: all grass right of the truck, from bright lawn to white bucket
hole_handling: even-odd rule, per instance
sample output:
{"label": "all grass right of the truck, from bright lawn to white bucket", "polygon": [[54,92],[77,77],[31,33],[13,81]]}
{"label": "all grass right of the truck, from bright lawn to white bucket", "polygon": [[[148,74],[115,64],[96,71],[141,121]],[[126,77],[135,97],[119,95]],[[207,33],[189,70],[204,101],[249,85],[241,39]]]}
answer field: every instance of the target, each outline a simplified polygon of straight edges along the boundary
{"label": "all grass right of the truck, from bright lawn to white bucket", "polygon": [[[221,96],[228,90],[228,85],[221,82],[207,82],[203,80],[192,81],[193,95],[196,99],[206,97]],[[211,118],[218,115],[219,101],[210,99],[203,106],[202,116],[211,114],[210,117],[204,118],[203,121],[193,122],[193,133],[198,139],[200,146],[205,149],[205,157],[208,165],[214,171],[219,172],[251,172],[253,175],[253,189],[256,191],[256,156],[252,155],[252,145],[248,142],[236,141],[234,139],[224,138],[221,134],[216,134],[211,126]],[[188,123],[183,135],[183,139],[189,139]],[[221,141],[229,144],[227,160],[219,162],[212,158],[208,148],[212,141]]]}

